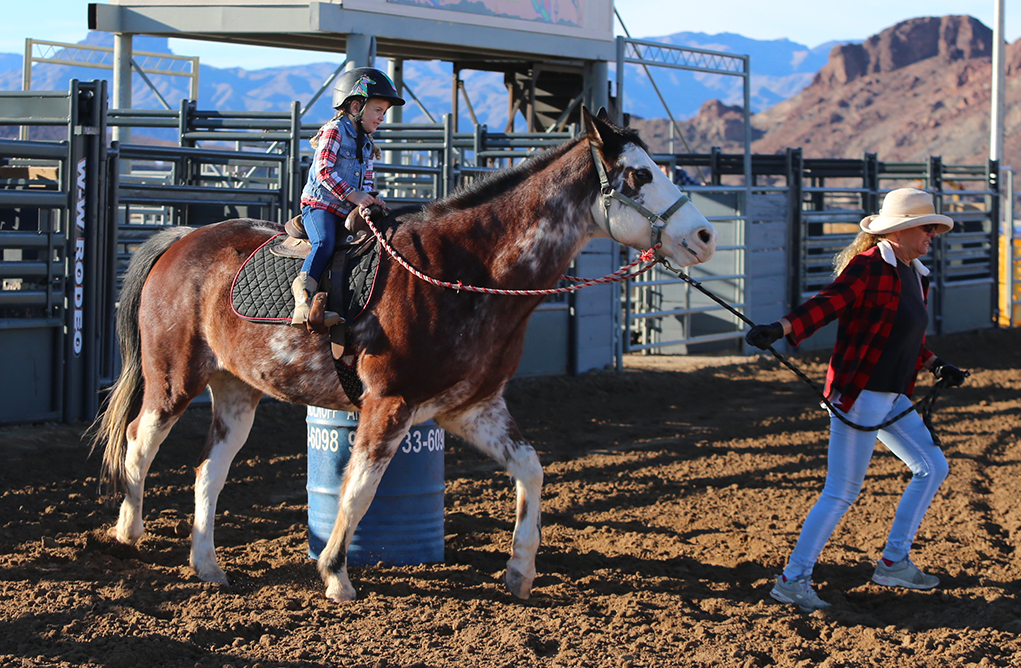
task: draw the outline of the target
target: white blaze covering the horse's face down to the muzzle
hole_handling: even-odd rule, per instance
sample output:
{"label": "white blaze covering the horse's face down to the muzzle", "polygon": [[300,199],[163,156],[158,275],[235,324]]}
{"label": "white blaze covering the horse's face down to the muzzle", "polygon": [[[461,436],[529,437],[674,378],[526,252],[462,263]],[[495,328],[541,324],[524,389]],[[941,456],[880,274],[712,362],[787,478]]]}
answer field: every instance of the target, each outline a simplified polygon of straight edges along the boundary
{"label": "white blaze covering the horse's face down to the muzzle", "polygon": [[[627,146],[621,152],[618,165],[625,168],[620,174],[631,168],[640,171],[641,176],[651,175],[652,180],[644,183],[633,198],[653,213],[667,211],[682,194],[649,154],[638,146]],[[621,189],[623,183],[614,186]],[[597,216],[601,219],[602,198],[596,200]],[[652,245],[652,223],[617,200],[612,200],[610,205],[610,226],[613,238],[633,248],[645,249]],[[671,265],[688,267],[704,263],[716,252],[716,229],[694,204],[688,202],[666,221],[660,241],[663,244],[660,254],[670,259]]]}

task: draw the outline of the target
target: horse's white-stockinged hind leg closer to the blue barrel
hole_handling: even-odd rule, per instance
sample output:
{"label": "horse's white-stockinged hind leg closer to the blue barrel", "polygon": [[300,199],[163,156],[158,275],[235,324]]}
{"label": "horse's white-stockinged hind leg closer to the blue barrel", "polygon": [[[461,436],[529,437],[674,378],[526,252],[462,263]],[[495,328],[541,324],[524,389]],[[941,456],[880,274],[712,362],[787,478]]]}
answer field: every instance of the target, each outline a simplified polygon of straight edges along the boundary
{"label": "horse's white-stockinged hind leg closer to the blue barrel", "polygon": [[216,499],[234,457],[248,439],[255,409],[262,393],[227,373],[209,379],[212,422],[205,450],[195,470],[195,523],[192,525],[190,564],[204,582],[227,584],[227,574],[216,563],[212,533]]}

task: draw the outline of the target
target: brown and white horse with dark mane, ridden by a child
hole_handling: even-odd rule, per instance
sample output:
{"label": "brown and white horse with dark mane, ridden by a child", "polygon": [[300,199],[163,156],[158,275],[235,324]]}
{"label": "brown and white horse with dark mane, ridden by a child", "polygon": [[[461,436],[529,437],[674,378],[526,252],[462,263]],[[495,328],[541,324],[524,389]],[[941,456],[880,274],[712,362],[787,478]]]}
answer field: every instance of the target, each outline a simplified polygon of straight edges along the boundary
{"label": "brown and white horse with dark mane, ridden by a child", "polygon": [[[679,267],[709,259],[716,230],[658,169],[633,130],[582,111],[575,138],[400,218],[390,244],[424,275],[494,289],[552,288],[593,237],[658,247]],[[655,213],[654,211],[662,211]],[[348,577],[352,534],[411,425],[429,419],[499,463],[516,486],[516,521],[503,583],[528,599],[540,542],[542,467],[502,392],[522,356],[542,295],[450,290],[384,255],[382,289],[350,324],[360,396],[338,380],[328,335],[252,323],[232,312],[232,281],[281,232],[236,219],[169,228],[139,247],[120,292],[121,372],[97,419],[102,476],[124,493],[118,542],[141,537],[145,477],[189,402],[208,387],[212,418],[195,479],[189,562],[227,584],[216,560],[216,499],[264,395],[360,417],[330,538],[319,558],[326,595],[356,597]],[[438,362],[442,364],[438,364]]]}

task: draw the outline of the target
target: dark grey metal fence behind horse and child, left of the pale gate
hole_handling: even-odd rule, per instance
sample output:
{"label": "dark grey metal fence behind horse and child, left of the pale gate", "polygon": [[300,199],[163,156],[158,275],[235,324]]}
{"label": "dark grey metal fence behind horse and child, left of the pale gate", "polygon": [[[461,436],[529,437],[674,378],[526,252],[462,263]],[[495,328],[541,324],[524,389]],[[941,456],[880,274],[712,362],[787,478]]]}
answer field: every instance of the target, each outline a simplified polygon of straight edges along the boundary
{"label": "dark grey metal fence behind horse and child, left of the pale gate", "polygon": [[[0,125],[65,137],[0,140],[0,345],[17,351],[0,365],[0,423],[95,416],[99,390],[119,367],[121,277],[152,234],[239,217],[282,223],[299,210],[311,157],[305,140],[320,124],[301,123],[297,103],[290,113],[249,113],[187,101],[117,110],[106,100],[101,81],[72,81],[67,92],[0,93]],[[108,127],[171,130],[179,145],[108,142]],[[377,184],[391,204],[432,201],[573,136],[452,127],[446,116],[377,135],[384,151]],[[572,337],[580,337],[570,320],[585,307],[565,296],[540,305],[533,323],[545,340],[532,345],[521,373],[577,368]]]}

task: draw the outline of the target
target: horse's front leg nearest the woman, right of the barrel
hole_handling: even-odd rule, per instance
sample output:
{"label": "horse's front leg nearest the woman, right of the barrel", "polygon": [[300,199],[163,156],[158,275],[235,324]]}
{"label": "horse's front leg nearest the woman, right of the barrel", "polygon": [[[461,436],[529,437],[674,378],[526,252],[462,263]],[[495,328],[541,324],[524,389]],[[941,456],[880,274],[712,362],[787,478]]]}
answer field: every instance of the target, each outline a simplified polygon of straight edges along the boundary
{"label": "horse's front leg nearest the woman, right of the barrel", "polygon": [[502,396],[479,403],[467,412],[437,417],[447,431],[457,434],[503,466],[515,481],[517,517],[514,541],[504,582],[510,593],[528,599],[535,580],[535,554],[539,550],[542,520],[542,465],[535,449],[525,441]]}

